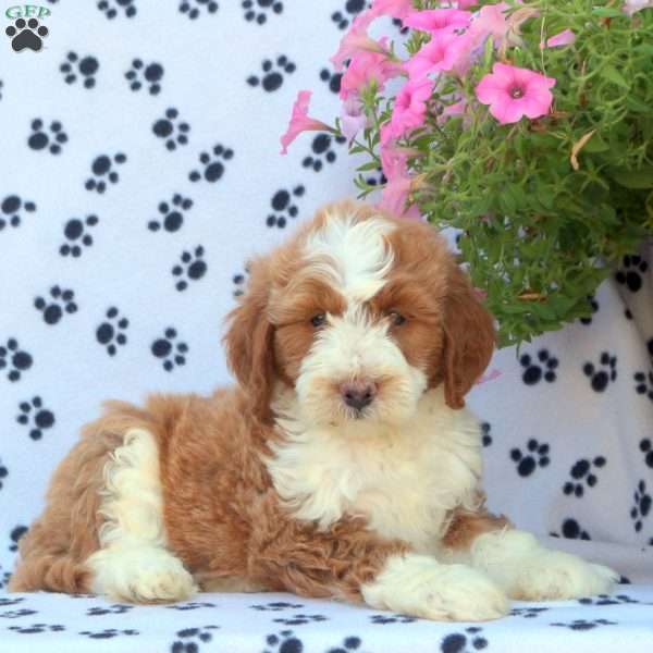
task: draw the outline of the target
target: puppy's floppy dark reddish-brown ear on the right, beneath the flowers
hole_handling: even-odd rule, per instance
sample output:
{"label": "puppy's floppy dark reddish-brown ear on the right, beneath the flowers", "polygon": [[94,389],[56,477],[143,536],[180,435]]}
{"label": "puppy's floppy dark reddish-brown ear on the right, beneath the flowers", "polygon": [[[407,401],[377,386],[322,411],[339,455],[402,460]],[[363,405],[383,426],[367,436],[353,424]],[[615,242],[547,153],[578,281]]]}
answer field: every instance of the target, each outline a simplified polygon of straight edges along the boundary
{"label": "puppy's floppy dark reddish-brown ear on the right, beneath the flowers", "polygon": [[491,315],[467,275],[453,266],[444,304],[444,398],[463,408],[465,395],[483,373],[496,340]]}

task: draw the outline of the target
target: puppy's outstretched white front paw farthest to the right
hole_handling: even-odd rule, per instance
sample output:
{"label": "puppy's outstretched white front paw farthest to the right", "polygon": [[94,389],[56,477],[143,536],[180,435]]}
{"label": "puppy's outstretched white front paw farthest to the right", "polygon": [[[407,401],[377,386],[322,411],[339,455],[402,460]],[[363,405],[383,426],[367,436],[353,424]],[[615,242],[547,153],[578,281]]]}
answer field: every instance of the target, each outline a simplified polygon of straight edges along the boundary
{"label": "puppy's outstretched white front paw farthest to the right", "polygon": [[606,594],[619,579],[616,571],[562,551],[540,550],[520,564],[508,592],[513,599],[544,601]]}

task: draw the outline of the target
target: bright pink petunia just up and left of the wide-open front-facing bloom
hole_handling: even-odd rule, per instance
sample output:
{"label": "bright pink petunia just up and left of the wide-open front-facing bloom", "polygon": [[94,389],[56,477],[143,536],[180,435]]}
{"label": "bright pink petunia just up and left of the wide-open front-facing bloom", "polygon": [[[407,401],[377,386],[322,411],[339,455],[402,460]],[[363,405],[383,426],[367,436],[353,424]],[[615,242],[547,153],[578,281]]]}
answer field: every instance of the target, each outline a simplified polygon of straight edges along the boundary
{"label": "bright pink petunia just up and left of the wide-open front-facing bloom", "polygon": [[431,40],[404,64],[404,70],[411,79],[420,79],[435,71],[454,70],[463,75],[469,67],[471,45],[465,34],[434,32]]}

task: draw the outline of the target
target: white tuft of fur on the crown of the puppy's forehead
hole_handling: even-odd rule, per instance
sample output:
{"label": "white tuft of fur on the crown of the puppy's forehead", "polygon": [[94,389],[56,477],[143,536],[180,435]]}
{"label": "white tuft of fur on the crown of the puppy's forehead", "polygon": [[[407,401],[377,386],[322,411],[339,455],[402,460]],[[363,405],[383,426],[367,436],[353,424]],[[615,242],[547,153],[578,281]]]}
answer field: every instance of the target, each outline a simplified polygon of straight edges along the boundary
{"label": "white tuft of fur on the crown of the puppy's forehead", "polygon": [[385,236],[394,229],[381,217],[356,222],[349,214],[330,214],[308,236],[305,256],[347,299],[366,301],[381,289],[392,267],[393,252]]}

